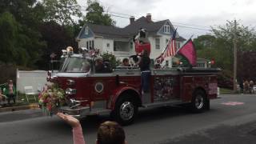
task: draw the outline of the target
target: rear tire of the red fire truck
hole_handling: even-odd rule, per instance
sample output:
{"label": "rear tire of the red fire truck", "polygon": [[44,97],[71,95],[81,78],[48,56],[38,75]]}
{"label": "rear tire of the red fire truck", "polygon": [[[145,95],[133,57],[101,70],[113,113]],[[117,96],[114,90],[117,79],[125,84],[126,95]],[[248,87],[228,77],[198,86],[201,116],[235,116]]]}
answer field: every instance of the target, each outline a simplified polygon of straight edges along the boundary
{"label": "rear tire of the red fire truck", "polygon": [[207,105],[206,94],[202,90],[196,90],[191,101],[191,109],[195,113],[200,113],[205,110]]}

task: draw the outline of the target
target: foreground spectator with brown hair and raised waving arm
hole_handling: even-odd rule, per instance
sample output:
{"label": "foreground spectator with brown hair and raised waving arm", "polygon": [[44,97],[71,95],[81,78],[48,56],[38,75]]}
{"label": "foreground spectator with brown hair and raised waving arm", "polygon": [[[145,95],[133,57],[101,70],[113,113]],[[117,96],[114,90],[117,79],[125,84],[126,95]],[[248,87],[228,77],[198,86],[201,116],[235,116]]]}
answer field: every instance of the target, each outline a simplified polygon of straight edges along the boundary
{"label": "foreground spectator with brown hair and raised waving arm", "polygon": [[[85,139],[82,135],[82,126],[77,118],[63,113],[57,114],[65,122],[72,126],[74,144],[85,144]],[[126,134],[122,126],[117,122],[103,122],[98,127],[96,144],[126,144]]]}

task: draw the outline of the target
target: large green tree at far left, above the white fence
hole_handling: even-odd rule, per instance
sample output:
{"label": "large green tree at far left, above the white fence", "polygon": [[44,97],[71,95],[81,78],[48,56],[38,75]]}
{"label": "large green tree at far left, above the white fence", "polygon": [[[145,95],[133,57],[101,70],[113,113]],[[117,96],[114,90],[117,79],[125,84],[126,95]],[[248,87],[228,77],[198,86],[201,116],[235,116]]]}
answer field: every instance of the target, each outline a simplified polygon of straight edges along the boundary
{"label": "large green tree at far left, above the white fence", "polygon": [[[3,57],[5,60],[2,61],[20,66],[35,66],[45,46],[38,32],[38,26],[44,15],[42,5],[36,0],[8,0],[0,2],[0,12],[2,13],[1,35],[4,37],[1,38],[1,43],[5,45],[10,43],[5,47],[9,50],[9,53],[6,53],[8,57]],[[10,26],[6,26],[6,22]]]}

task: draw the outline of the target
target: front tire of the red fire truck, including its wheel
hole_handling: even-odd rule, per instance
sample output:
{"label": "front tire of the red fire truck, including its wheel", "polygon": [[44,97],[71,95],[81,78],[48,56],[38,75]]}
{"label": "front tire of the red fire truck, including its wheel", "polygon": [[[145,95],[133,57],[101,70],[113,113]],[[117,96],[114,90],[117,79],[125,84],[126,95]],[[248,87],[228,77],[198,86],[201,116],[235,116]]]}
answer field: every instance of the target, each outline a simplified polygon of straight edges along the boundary
{"label": "front tire of the red fire truck, including its wheel", "polygon": [[138,106],[134,102],[134,98],[131,98],[128,94],[122,95],[118,99],[115,105],[112,117],[121,125],[129,125],[134,122],[134,118],[137,115]]}

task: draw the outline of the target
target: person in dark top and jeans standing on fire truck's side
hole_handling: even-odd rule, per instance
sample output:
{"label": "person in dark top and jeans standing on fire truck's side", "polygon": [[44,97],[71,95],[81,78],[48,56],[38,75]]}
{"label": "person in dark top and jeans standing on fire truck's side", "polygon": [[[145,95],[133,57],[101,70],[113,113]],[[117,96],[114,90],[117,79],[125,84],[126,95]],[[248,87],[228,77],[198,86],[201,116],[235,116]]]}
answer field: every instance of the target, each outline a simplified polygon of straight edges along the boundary
{"label": "person in dark top and jeans standing on fire truck's side", "polygon": [[138,66],[142,74],[142,94],[150,91],[150,57],[147,50],[142,50],[142,56],[138,60]]}

